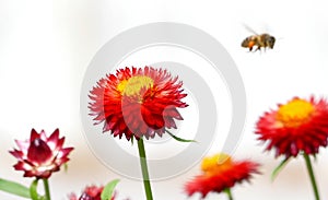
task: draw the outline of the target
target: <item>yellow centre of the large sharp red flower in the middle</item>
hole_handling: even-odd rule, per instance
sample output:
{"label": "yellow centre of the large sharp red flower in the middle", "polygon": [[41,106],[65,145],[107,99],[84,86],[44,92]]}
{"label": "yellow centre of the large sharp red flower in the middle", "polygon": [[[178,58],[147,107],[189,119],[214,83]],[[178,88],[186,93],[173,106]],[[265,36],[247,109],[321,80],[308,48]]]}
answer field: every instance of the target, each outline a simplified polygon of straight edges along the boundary
{"label": "yellow centre of the large sharp red flower in the middle", "polygon": [[122,95],[126,95],[126,96],[139,95],[141,97],[140,90],[143,87],[150,89],[153,86],[153,84],[154,84],[153,79],[151,79],[147,75],[136,75],[128,80],[121,81],[117,85],[117,90]]}

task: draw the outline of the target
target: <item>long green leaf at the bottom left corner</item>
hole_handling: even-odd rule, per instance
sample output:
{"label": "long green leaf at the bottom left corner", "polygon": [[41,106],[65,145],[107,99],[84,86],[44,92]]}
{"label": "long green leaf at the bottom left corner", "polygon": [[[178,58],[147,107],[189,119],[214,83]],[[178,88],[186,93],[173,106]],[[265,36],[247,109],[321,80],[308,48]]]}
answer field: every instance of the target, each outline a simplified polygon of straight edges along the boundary
{"label": "long green leaf at the bottom left corner", "polygon": [[0,190],[5,191],[8,193],[16,195],[23,198],[31,198],[30,190],[27,187],[0,178]]}

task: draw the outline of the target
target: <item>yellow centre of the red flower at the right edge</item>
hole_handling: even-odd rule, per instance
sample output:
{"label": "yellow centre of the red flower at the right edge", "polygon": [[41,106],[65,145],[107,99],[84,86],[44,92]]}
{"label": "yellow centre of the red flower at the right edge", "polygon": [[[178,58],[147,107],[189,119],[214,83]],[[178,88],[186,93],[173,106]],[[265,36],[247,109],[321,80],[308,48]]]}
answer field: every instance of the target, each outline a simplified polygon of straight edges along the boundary
{"label": "yellow centre of the red flower at the right edge", "polygon": [[279,108],[277,119],[284,127],[298,127],[307,122],[314,111],[315,107],[309,102],[293,99]]}

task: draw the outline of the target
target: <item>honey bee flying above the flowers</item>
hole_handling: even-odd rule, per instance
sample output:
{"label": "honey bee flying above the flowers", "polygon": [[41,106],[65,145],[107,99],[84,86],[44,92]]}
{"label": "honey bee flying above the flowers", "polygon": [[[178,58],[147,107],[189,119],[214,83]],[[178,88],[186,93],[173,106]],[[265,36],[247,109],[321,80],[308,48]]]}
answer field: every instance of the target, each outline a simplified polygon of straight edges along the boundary
{"label": "honey bee flying above the flowers", "polygon": [[248,48],[249,51],[253,50],[254,46],[257,46],[256,50],[261,50],[261,48],[266,48],[269,47],[271,49],[273,49],[274,43],[276,43],[276,38],[267,33],[263,34],[257,34],[256,32],[254,32],[251,28],[249,28],[248,26],[245,26],[248,31],[250,31],[251,33],[254,33],[254,35],[246,37],[243,43],[242,43],[242,47],[244,48]]}

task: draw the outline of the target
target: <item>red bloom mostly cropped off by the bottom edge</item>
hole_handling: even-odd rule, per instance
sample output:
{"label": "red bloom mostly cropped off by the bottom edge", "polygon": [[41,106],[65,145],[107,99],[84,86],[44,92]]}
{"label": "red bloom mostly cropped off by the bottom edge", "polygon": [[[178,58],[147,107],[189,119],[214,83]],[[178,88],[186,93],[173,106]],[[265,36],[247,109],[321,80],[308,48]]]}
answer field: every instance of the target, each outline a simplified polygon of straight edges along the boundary
{"label": "red bloom mostly cropped off by the bottom edge", "polygon": [[[104,187],[97,187],[97,186],[87,186],[83,190],[82,195],[78,199],[75,193],[71,193],[69,196],[69,200],[102,200],[101,196],[103,192]],[[112,200],[115,200],[115,197],[112,198]]]}

